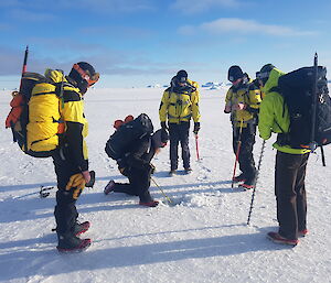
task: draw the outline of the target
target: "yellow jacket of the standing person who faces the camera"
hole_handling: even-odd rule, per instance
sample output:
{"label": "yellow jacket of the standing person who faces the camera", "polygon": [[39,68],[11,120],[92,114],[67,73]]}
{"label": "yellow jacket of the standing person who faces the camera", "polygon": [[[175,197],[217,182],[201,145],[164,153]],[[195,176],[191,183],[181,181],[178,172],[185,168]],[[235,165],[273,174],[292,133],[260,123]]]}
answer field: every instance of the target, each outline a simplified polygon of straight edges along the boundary
{"label": "yellow jacket of the standing person who faces the camera", "polygon": [[164,90],[159,109],[161,122],[166,122],[167,119],[170,123],[188,122],[191,118],[194,122],[200,122],[199,85],[190,79],[188,83],[195,88],[194,91],[174,92],[171,87]]}

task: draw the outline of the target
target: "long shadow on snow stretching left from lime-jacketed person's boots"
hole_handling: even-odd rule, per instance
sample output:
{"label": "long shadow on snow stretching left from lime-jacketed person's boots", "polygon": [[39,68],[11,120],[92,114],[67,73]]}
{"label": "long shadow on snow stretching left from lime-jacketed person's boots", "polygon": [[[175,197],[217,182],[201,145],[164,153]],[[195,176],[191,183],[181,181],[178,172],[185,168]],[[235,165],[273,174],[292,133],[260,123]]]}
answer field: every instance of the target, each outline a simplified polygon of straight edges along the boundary
{"label": "long shadow on snow stretching left from lime-jacketed person's boots", "polygon": [[[215,228],[224,229],[234,226],[243,227],[244,225],[221,226]],[[194,231],[196,231],[196,229],[194,229]],[[174,232],[184,231],[168,231],[161,233]],[[154,233],[156,237],[158,237],[158,235],[159,232]],[[149,236],[152,237],[153,233]],[[86,269],[90,271],[108,269],[109,271],[115,268],[175,262],[186,259],[228,257],[248,252],[290,249],[268,241],[265,232],[104,248],[105,246],[113,246],[114,243],[111,242],[132,237],[146,237],[146,235],[96,239],[88,250],[73,254],[58,254],[54,247],[55,236],[53,237],[54,242],[52,247],[50,244],[52,241],[51,236],[40,239],[4,242],[0,244],[0,249],[8,249],[8,251],[2,251],[0,262],[11,268],[3,270],[1,277],[8,281],[34,275],[60,275]],[[29,262],[29,264],[26,264],[26,262]],[[73,262],[77,264],[73,264]],[[18,269],[18,266],[20,266],[20,269]]]}

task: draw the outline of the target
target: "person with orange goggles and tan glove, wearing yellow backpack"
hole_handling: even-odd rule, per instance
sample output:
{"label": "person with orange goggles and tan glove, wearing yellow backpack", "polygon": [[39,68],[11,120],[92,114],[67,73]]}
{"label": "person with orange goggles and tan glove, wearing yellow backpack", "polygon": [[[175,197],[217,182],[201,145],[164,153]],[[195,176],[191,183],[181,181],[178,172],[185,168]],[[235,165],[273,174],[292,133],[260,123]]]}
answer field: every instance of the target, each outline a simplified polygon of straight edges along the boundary
{"label": "person with orange goggles and tan glove, wearing yellow backpack", "polygon": [[[62,74],[61,72],[58,72]],[[86,62],[74,64],[63,79],[61,121],[65,124],[60,144],[52,154],[57,177],[56,206],[54,210],[60,252],[79,251],[90,244],[90,239],[78,235],[89,228],[89,222],[77,222],[75,206],[85,185],[89,183],[88,155],[85,137],[87,120],[84,116],[84,95],[98,80],[98,73]]]}

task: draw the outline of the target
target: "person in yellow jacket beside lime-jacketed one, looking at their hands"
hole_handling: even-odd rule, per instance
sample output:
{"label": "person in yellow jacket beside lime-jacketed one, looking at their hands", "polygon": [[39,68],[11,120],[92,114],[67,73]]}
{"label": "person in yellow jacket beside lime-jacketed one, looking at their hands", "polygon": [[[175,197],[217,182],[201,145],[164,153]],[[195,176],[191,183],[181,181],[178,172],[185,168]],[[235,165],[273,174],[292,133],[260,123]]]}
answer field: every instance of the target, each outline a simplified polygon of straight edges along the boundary
{"label": "person in yellow jacket beside lime-jacketed one, looking at their hands", "polygon": [[260,89],[237,65],[229,67],[227,78],[232,83],[232,87],[226,92],[224,112],[231,113],[233,151],[235,155],[238,155],[236,157],[242,171],[239,175],[234,176],[233,182],[244,182],[241,186],[249,189],[254,187],[256,179],[253,146],[258,120]]}

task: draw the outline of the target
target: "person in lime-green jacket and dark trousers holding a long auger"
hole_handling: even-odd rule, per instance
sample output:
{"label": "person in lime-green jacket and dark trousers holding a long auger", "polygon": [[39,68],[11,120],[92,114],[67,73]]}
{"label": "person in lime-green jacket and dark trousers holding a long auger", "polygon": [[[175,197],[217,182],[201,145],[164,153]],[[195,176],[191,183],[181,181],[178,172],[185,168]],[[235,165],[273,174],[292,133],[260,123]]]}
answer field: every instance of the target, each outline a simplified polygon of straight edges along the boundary
{"label": "person in lime-green jacket and dark trousers holding a long auger", "polygon": [[308,233],[305,176],[310,150],[291,148],[284,139],[284,134],[290,129],[290,117],[284,97],[276,88],[282,75],[271,64],[265,65],[257,73],[265,94],[259,110],[258,130],[264,140],[268,140],[271,133],[278,134],[273,146],[277,150],[275,195],[279,229],[267,236],[274,242],[296,246],[298,237]]}

